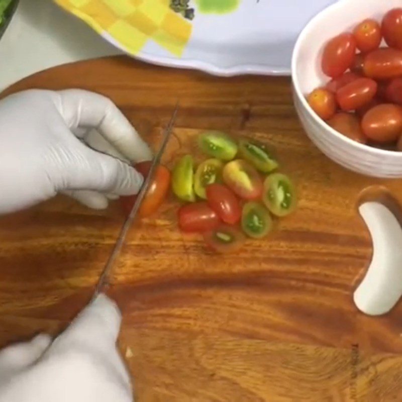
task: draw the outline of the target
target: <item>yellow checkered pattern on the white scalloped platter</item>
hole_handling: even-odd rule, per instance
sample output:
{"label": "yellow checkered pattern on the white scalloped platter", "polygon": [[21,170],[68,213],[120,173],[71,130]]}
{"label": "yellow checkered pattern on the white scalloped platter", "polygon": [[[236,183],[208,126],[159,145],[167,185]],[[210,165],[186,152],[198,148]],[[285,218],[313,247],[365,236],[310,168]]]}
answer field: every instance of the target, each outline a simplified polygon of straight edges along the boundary
{"label": "yellow checkered pattern on the white scalloped platter", "polygon": [[89,24],[108,32],[129,53],[138,54],[153,40],[180,57],[191,36],[192,25],[169,8],[169,0],[55,0]]}

